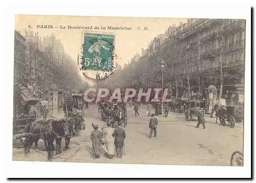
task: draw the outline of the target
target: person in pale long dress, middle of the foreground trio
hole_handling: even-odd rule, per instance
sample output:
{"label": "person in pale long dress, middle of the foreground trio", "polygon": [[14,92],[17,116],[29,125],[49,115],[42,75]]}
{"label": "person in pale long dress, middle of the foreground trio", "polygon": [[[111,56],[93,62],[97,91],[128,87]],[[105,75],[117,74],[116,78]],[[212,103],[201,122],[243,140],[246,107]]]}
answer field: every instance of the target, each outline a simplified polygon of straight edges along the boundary
{"label": "person in pale long dress, middle of the foreground trio", "polygon": [[114,129],[111,128],[111,122],[106,123],[106,128],[102,129],[102,139],[104,140],[104,151],[105,156],[112,159],[115,154],[115,146],[114,146],[114,137],[112,136],[114,133]]}

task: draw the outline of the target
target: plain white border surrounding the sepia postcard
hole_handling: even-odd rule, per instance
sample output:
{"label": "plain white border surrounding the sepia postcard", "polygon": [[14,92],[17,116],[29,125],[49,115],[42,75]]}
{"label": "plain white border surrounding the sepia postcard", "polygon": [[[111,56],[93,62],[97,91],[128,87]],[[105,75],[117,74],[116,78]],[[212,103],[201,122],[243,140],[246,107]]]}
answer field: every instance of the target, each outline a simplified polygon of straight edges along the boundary
{"label": "plain white border surrounding the sepia postcard", "polygon": [[[2,57],[2,150],[4,177],[250,177],[250,5],[230,1],[207,3],[137,2],[94,3],[80,1],[11,2],[5,3],[2,22],[4,56]],[[61,2],[61,3],[60,3]],[[83,2],[83,3],[82,3]],[[2,6],[3,7],[3,6]],[[90,8],[93,7],[93,8]],[[96,11],[97,10],[97,11]],[[12,88],[13,88],[13,42],[14,14],[94,15],[133,17],[180,17],[180,18],[246,18],[246,76],[245,76],[245,136],[244,167],[200,167],[200,166],[155,166],[112,165],[82,163],[12,162]],[[4,96],[4,97],[3,97]],[[3,113],[4,112],[4,113]],[[231,155],[231,154],[230,154]]]}

